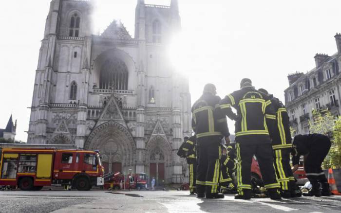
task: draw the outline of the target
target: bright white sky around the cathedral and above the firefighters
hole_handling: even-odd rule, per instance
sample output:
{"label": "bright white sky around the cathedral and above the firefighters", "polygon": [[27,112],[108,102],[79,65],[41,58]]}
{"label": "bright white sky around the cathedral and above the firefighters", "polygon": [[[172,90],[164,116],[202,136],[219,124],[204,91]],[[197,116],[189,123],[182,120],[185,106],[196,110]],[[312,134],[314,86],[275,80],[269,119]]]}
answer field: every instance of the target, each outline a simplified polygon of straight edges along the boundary
{"label": "bright white sky around the cathedral and above the firefighters", "polygon": [[[95,29],[120,19],[134,35],[137,0],[96,0]],[[146,0],[169,5],[170,0]],[[35,70],[50,0],[10,0],[0,13],[0,128],[11,113],[17,140],[27,140]],[[284,99],[287,75],[314,68],[315,53],[337,52],[340,0],[179,0],[183,32],[173,56],[190,78],[192,103],[206,83],[222,98],[248,77]],[[173,49],[173,52],[175,52]],[[229,121],[233,132],[233,123]]]}

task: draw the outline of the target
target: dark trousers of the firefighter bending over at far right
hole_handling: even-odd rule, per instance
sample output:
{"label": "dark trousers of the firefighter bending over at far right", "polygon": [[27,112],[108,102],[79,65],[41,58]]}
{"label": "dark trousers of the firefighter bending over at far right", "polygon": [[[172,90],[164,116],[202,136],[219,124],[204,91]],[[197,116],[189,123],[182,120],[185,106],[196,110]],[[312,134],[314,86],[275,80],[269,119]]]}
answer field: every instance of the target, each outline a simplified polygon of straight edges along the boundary
{"label": "dark trousers of the firefighter bending over at far right", "polygon": [[321,165],[329,152],[330,145],[331,142],[329,140],[325,140],[321,141],[319,146],[311,147],[311,150],[304,161],[305,174],[310,181],[313,190],[318,190],[320,188],[320,184],[318,182],[322,183],[322,185],[328,182]]}

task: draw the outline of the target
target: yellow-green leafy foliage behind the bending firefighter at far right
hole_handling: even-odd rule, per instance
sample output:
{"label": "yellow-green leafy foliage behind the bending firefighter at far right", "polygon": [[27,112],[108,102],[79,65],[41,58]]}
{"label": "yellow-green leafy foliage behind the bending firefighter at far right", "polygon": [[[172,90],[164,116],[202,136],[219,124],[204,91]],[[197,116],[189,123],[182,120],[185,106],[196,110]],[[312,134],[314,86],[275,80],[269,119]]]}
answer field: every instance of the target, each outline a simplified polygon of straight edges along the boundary
{"label": "yellow-green leafy foliage behind the bending firefighter at far right", "polygon": [[313,110],[313,119],[309,121],[310,133],[319,133],[328,136],[332,145],[324,159],[324,168],[341,168],[341,117],[335,118],[327,110]]}

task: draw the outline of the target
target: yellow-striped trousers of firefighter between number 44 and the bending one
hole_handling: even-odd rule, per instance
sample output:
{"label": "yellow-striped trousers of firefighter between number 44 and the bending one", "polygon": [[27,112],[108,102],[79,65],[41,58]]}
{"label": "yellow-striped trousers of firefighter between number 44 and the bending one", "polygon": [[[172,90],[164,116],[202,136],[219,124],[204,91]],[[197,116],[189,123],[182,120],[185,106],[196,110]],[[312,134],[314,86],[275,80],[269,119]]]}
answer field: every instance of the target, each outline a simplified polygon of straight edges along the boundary
{"label": "yellow-striped trousers of firefighter between number 44 and the bending one", "polygon": [[295,181],[290,166],[290,148],[273,150],[276,175],[282,190],[291,190],[289,181]]}

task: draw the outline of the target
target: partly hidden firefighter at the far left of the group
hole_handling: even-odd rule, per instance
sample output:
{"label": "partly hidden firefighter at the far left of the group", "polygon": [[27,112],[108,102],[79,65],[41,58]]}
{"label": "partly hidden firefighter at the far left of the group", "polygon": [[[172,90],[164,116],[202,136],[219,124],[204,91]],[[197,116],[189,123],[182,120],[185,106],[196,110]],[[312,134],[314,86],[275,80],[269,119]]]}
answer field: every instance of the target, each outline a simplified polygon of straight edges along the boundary
{"label": "partly hidden firefighter at the far left of the group", "polygon": [[195,180],[196,180],[196,138],[195,135],[189,137],[182,147],[182,150],[186,152],[186,160],[189,165],[189,192],[190,195],[194,195],[195,190]]}

